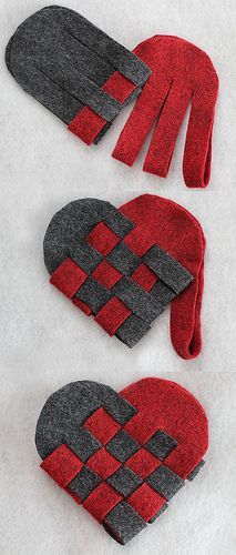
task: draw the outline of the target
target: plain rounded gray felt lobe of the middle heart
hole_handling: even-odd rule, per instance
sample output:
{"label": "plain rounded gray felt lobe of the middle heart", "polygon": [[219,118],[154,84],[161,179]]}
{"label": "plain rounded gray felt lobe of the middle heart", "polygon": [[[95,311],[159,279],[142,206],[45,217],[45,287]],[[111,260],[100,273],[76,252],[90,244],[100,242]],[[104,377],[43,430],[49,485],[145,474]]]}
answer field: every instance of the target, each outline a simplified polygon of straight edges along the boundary
{"label": "plain rounded gray felt lobe of the middle heart", "polygon": [[44,262],[50,274],[76,251],[93,228],[104,221],[123,239],[135,225],[121,214],[110,202],[98,199],[72,201],[57,212],[45,232],[43,241]]}

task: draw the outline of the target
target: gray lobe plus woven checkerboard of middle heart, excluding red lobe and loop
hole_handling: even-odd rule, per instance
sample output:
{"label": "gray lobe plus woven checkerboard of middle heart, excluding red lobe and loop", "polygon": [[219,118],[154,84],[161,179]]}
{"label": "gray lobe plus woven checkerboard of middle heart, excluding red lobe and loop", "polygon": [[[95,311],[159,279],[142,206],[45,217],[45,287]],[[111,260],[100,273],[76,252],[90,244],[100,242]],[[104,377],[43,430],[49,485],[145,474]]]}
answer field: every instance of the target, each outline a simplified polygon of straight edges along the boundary
{"label": "gray lobe plus woven checkerboard of middle heart, excluding red lobe and loop", "polygon": [[95,199],[71,202],[52,218],[44,260],[51,283],[129,347],[194,280],[147,225]]}

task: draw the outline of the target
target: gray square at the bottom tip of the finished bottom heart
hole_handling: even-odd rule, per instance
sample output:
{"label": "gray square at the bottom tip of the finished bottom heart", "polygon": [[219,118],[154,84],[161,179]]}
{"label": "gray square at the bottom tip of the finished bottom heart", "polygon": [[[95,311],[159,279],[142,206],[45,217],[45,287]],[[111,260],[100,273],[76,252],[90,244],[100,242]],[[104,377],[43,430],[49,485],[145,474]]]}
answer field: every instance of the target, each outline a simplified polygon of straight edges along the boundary
{"label": "gray square at the bottom tip of the finished bottom heart", "polygon": [[122,545],[145,528],[146,523],[125,501],[119,503],[104,518],[105,531]]}

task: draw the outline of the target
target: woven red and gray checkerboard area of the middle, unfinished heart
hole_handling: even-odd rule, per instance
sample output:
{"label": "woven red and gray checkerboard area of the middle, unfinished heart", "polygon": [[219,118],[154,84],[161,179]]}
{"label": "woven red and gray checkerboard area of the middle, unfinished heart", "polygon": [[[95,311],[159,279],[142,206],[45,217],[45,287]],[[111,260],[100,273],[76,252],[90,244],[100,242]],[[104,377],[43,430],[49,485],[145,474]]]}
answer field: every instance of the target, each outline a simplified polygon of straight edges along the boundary
{"label": "woven red and gray checkerboard area of the middle, unfinished heart", "polygon": [[[115,209],[113,208],[113,211]],[[93,315],[111,336],[133,347],[165,305],[192,281],[192,274],[157,244],[142,256],[129,246],[134,223],[116,211],[70,249],[50,282]]]}

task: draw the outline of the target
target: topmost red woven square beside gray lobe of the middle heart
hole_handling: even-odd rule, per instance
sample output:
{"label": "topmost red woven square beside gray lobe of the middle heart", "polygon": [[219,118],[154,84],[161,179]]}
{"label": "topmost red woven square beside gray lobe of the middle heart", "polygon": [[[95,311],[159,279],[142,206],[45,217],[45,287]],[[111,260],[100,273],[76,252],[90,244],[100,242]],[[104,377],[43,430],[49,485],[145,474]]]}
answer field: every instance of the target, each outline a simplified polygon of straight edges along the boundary
{"label": "topmost red woven square beside gray lobe of the middle heart", "polygon": [[106,256],[120,242],[120,238],[104,223],[100,222],[86,236],[88,243]]}

